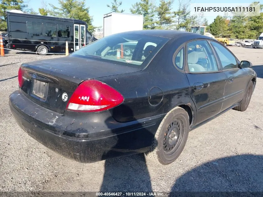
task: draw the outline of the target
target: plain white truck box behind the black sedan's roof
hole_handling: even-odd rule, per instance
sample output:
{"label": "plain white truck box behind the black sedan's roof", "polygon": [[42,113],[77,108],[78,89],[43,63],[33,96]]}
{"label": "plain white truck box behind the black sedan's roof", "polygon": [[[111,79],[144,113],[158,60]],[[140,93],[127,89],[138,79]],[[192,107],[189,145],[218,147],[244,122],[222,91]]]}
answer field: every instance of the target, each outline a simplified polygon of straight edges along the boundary
{"label": "plain white truck box behind the black sedan's roof", "polygon": [[143,15],[110,12],[103,17],[103,36],[143,30]]}

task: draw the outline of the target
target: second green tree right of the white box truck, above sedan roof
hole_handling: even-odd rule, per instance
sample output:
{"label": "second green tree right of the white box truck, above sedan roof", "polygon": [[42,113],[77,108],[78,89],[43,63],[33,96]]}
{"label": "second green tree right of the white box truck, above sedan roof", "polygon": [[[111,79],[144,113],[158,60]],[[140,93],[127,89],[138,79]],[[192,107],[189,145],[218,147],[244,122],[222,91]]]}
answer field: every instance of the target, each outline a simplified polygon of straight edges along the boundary
{"label": "second green tree right of the white box truck, above sedan roof", "polygon": [[160,0],[160,4],[156,9],[157,12],[157,28],[164,29],[171,26],[173,21],[172,4],[174,0]]}

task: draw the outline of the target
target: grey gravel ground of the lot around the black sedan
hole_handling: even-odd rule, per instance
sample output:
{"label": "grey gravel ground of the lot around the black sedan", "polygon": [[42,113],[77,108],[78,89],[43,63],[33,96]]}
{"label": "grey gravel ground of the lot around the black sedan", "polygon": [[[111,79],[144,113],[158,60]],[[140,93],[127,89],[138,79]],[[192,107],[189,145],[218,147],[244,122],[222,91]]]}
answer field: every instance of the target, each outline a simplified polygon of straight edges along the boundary
{"label": "grey gravel ground of the lot around the black sedan", "polygon": [[181,156],[167,166],[143,154],[81,164],[45,148],[16,124],[8,96],[18,87],[21,63],[59,55],[0,57],[0,191],[263,192],[263,49],[230,49],[258,74],[248,109],[230,110],[190,132]]}

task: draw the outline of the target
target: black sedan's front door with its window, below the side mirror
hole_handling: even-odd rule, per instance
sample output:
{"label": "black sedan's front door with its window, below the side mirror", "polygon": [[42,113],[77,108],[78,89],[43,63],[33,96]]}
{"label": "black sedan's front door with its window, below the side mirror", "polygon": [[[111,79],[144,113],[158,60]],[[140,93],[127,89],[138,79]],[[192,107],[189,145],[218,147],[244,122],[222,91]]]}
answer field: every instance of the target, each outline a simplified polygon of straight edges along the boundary
{"label": "black sedan's front door with its window, below the side mirror", "polygon": [[211,41],[211,45],[214,47],[223,73],[227,77],[222,107],[223,111],[243,98],[247,88],[248,75],[244,68],[238,68],[239,63],[236,57],[228,49],[213,41]]}

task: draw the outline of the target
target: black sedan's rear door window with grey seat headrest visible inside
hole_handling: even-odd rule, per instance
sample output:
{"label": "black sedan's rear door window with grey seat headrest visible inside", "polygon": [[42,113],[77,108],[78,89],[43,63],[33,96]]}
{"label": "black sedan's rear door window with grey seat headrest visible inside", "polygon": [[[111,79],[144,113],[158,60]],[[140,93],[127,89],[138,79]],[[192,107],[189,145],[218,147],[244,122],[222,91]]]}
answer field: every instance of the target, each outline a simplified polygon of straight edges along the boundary
{"label": "black sedan's rear door window with grey seat headrest visible inside", "polygon": [[187,44],[187,64],[190,73],[218,71],[214,54],[206,40]]}

